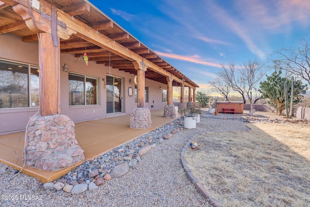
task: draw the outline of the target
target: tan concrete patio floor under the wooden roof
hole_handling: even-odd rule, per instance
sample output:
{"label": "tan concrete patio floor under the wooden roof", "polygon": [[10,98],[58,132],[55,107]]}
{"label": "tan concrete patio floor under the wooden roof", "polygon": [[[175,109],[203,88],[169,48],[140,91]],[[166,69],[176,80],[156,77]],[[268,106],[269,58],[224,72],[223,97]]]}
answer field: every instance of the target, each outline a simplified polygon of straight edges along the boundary
{"label": "tan concrete patio floor under the wooden roof", "polygon": [[[76,139],[84,150],[86,160],[92,159],[174,120],[163,117],[163,114],[163,109],[151,111],[152,126],[147,129],[130,128],[130,114],[75,123]],[[178,113],[176,115],[179,117]],[[23,166],[24,136],[25,132],[0,136],[0,162],[18,171]],[[67,174],[81,163],[58,171],[43,171],[25,166],[22,173],[46,183]]]}

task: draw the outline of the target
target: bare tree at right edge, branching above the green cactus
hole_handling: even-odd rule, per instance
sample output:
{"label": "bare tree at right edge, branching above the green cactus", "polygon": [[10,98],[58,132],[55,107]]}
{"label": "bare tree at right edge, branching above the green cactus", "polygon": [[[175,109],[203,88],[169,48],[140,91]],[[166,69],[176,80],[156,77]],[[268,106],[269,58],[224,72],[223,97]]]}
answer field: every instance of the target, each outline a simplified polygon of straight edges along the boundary
{"label": "bare tree at right edge, branching above the green cactus", "polygon": [[294,74],[310,84],[310,48],[309,41],[300,40],[298,48],[282,48],[276,52],[280,56],[274,63],[280,69]]}

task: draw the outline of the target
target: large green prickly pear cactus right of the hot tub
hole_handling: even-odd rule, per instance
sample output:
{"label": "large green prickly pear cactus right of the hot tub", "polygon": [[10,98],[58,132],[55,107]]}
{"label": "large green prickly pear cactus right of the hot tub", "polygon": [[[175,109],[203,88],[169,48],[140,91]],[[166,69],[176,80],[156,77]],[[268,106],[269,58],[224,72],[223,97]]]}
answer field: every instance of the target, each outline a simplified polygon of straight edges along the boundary
{"label": "large green prickly pear cactus right of the hot tub", "polygon": [[[281,77],[282,71],[275,71],[271,74],[271,76],[267,76],[267,80],[260,82],[261,89],[258,91],[262,94],[260,97],[268,98],[268,104],[270,104],[273,108],[277,109],[278,113],[281,114],[285,109],[285,90],[284,84],[285,81],[291,81],[286,77]],[[292,84],[292,83],[291,83]],[[291,87],[287,88],[288,93],[291,91]],[[305,94],[308,90],[307,84],[303,85],[301,80],[294,81],[294,101],[293,105],[299,103],[301,101],[302,94]]]}

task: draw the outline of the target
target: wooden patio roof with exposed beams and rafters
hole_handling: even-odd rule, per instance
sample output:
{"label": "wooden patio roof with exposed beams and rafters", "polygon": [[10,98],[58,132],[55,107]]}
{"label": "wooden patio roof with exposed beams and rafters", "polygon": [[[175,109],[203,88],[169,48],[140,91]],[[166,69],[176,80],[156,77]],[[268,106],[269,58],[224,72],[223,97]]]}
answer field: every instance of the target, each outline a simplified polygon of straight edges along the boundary
{"label": "wooden patio roof with exposed beams and rafters", "polygon": [[[18,7],[17,4],[22,6]],[[41,16],[50,13],[51,5],[57,7],[57,18],[67,24],[66,31],[59,26],[58,33],[61,31],[67,34],[68,31],[72,32],[71,29],[74,30],[71,34],[61,36],[61,53],[72,53],[80,58],[86,52],[89,61],[135,75],[137,70],[133,62],[142,60],[149,68],[145,71],[147,79],[167,84],[167,77],[172,77],[173,86],[181,86],[184,81],[187,87],[199,87],[87,0],[40,0],[41,9],[32,13],[39,16],[29,17],[33,19],[35,27],[37,20],[41,24],[50,24],[48,20],[42,20]],[[10,32],[21,36],[23,42],[38,41],[38,33],[42,31],[29,29],[33,25],[27,17],[20,15],[21,10],[24,12],[30,8],[28,1],[1,0],[0,34]]]}

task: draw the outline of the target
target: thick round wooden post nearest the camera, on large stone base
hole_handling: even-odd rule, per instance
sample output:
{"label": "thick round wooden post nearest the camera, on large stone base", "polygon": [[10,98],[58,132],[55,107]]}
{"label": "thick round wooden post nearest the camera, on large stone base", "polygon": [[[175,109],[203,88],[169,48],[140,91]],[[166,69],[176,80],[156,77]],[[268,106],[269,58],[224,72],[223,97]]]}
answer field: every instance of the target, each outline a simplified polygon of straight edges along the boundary
{"label": "thick round wooden post nearest the camera, on large stone base", "polygon": [[41,116],[60,113],[60,48],[49,33],[40,33],[39,68]]}

